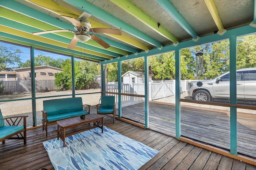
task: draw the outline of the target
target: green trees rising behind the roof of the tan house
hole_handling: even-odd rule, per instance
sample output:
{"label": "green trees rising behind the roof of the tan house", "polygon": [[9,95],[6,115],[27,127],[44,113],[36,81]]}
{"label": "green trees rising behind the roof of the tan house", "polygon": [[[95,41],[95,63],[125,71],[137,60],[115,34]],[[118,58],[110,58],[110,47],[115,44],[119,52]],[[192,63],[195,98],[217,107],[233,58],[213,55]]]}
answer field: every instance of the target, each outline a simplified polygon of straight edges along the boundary
{"label": "green trees rising behind the roof of the tan house", "polygon": [[[37,57],[34,57],[34,63],[35,66],[53,66],[57,68],[62,68],[62,63],[63,59],[53,59],[52,57],[49,56],[44,56],[44,55],[38,55]],[[19,64],[20,67],[30,67],[30,60],[27,60],[24,63]]]}

